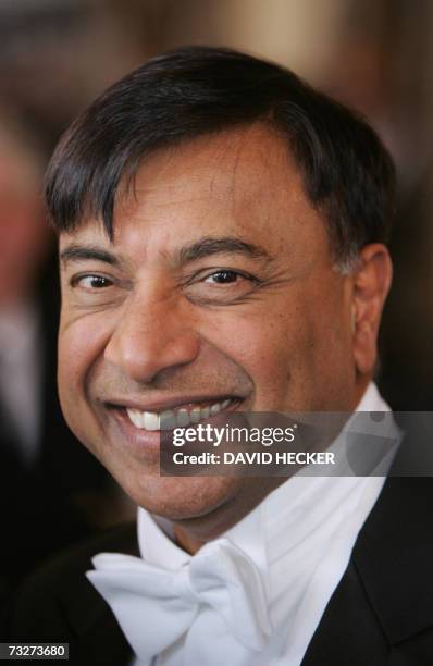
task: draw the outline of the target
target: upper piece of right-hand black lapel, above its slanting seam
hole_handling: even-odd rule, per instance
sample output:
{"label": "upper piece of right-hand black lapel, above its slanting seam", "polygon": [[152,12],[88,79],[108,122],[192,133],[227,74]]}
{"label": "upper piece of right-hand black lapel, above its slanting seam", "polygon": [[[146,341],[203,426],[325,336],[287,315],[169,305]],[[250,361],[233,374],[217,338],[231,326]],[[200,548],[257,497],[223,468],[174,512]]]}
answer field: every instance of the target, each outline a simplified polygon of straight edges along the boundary
{"label": "upper piece of right-hand black lapel, above its slanting seam", "polygon": [[432,515],[431,479],[388,479],[354,551],[391,644],[433,625]]}

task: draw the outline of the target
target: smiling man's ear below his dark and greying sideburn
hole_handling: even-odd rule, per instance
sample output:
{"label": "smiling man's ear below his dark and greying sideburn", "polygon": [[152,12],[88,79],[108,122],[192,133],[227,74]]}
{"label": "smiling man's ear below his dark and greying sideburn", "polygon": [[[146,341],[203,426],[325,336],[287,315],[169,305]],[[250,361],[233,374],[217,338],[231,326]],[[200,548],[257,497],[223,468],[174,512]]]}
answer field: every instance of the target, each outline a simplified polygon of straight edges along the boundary
{"label": "smiling man's ear below his dark and greying sideburn", "polygon": [[378,356],[378,332],[383,306],[393,279],[386,247],[367,245],[352,275],[354,358],[360,374],[371,374]]}

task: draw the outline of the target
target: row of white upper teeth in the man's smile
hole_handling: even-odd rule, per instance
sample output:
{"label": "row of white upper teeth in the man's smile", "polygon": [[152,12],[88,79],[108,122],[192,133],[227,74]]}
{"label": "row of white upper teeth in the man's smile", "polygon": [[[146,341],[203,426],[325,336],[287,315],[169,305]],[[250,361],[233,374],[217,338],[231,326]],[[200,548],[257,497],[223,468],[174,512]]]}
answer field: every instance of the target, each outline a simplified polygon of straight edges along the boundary
{"label": "row of white upper teeth in the man's smile", "polygon": [[210,407],[195,407],[191,411],[185,408],[176,411],[168,409],[161,414],[154,411],[140,411],[139,409],[126,409],[126,412],[136,428],[140,430],[173,430],[174,428],[186,428],[190,423],[198,423],[203,419],[220,414],[228,407],[231,400],[214,403]]}

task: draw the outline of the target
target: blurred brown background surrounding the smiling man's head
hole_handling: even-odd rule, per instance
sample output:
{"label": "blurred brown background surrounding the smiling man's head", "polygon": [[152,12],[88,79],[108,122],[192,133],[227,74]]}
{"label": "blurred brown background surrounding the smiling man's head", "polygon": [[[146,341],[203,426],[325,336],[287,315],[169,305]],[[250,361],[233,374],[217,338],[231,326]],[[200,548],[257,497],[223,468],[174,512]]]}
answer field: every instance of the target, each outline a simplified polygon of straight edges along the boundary
{"label": "blurred brown background surrounding the smiling man's head", "polygon": [[186,44],[285,64],[380,133],[398,170],[380,384],[395,409],[433,408],[433,2],[0,0],[0,597],[39,559],[132,515],[59,411],[55,252],[40,182],[90,100]]}

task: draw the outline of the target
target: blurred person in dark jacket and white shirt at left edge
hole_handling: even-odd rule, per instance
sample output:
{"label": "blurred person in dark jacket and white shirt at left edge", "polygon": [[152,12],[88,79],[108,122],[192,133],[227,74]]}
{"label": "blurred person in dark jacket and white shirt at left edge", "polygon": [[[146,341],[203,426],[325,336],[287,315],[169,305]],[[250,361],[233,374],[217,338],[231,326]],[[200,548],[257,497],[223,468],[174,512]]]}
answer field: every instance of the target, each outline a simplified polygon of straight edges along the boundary
{"label": "blurred person in dark jacket and white shirt at left edge", "polygon": [[0,599],[39,559],[94,529],[83,493],[102,491],[107,480],[58,405],[45,161],[29,123],[0,109]]}

